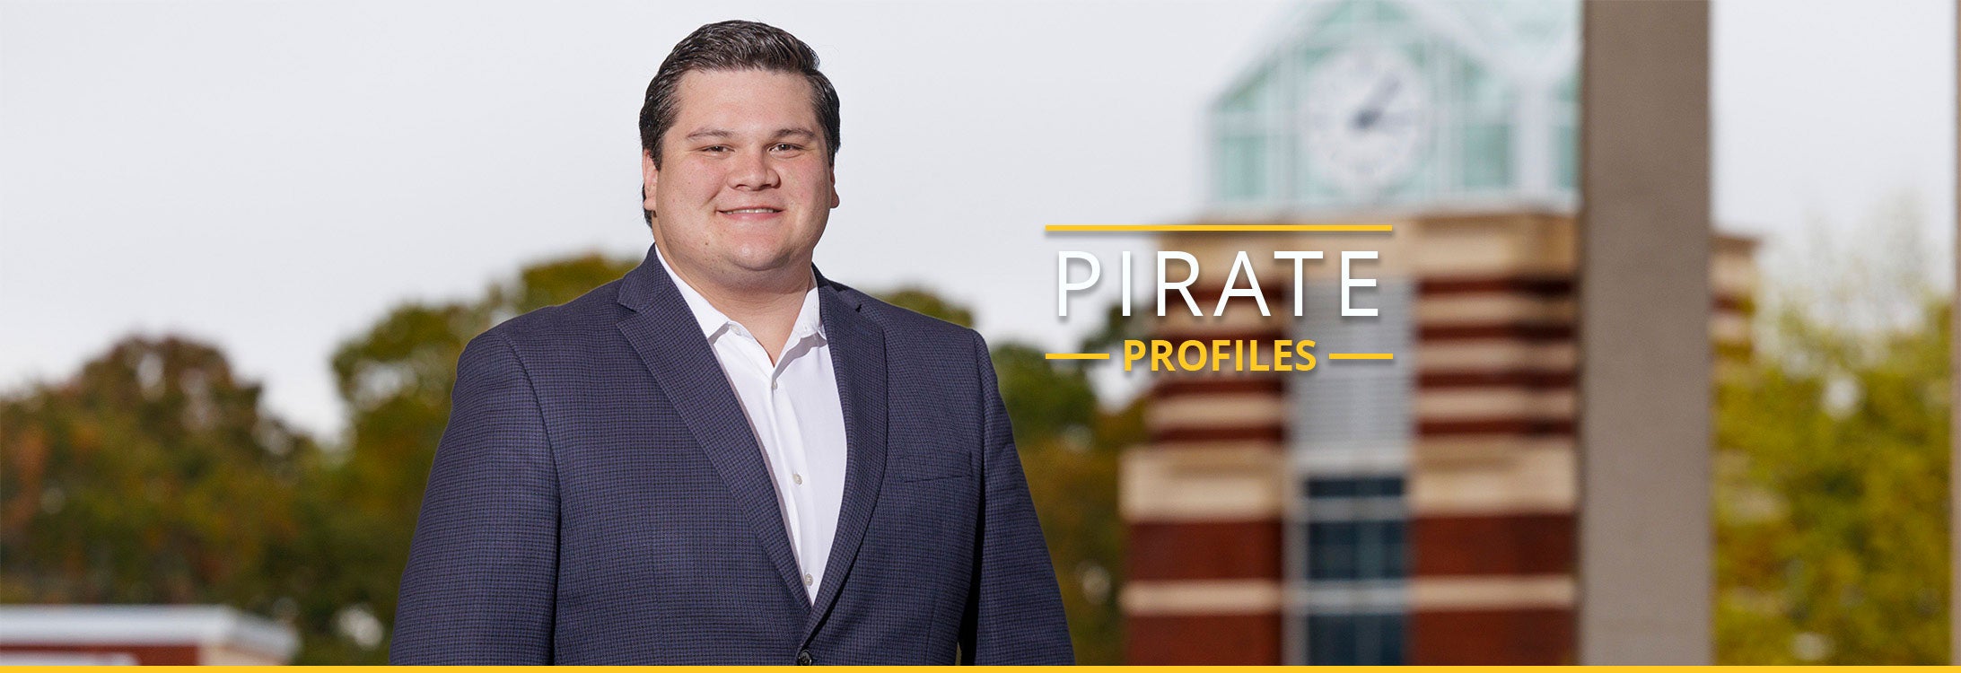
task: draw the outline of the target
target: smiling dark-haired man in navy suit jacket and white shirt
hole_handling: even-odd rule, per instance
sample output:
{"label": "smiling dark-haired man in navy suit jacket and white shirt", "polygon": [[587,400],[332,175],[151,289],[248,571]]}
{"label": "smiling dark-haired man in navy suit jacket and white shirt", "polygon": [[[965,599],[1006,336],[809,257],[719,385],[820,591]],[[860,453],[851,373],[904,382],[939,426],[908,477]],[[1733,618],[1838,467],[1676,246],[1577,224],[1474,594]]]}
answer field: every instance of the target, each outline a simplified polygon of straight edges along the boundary
{"label": "smiling dark-haired man in navy suit jacket and white shirt", "polygon": [[655,243],[465,347],[394,663],[1071,663],[986,345],[810,263],[837,126],[777,27],[661,63]]}

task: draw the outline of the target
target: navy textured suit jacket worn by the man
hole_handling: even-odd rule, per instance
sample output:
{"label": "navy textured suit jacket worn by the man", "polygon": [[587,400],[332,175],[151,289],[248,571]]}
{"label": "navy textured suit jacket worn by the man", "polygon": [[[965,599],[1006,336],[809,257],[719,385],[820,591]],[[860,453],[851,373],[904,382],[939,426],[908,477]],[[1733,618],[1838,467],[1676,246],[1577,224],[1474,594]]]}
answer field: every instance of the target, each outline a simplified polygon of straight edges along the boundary
{"label": "navy textured suit jacket worn by the man", "polygon": [[471,339],[394,663],[1073,663],[986,343],[818,277],[845,416],[806,595],[763,449],[647,251]]}

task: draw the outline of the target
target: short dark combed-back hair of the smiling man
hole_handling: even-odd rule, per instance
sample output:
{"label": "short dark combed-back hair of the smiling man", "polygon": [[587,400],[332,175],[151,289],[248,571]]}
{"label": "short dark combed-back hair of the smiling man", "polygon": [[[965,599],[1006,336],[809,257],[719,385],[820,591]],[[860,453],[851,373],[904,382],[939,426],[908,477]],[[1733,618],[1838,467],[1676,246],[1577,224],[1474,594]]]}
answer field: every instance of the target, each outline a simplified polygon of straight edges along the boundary
{"label": "short dark combed-back hair of the smiling man", "polygon": [[[639,108],[639,147],[653,155],[653,167],[661,167],[661,135],[675,126],[679,102],[675,88],[680,77],[692,71],[771,71],[802,75],[810,82],[810,106],[824,128],[828,161],[837,165],[837,90],[831,80],[818,73],[818,53],[788,31],[757,22],[720,22],[696,27],[675,45],[675,51],[661,61],[661,69],[647,82],[647,102]],[[641,184],[641,200],[647,188]],[[653,224],[653,212],[647,212]]]}

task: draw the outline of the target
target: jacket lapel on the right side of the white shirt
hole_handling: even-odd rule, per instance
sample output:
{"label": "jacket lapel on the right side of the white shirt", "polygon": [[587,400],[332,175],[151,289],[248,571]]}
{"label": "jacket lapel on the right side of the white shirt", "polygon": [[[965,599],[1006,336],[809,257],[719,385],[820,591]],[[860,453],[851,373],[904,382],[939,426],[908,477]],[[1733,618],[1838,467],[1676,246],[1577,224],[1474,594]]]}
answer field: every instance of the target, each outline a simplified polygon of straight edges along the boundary
{"label": "jacket lapel on the right side of the white shirt", "polygon": [[818,602],[804,624],[804,640],[824,624],[837,591],[851,573],[871,512],[884,483],[884,330],[859,314],[857,300],[818,275],[818,312],[830,337],[831,367],[837,371],[837,400],[845,412],[845,496],[837,508],[837,536],[824,567]]}

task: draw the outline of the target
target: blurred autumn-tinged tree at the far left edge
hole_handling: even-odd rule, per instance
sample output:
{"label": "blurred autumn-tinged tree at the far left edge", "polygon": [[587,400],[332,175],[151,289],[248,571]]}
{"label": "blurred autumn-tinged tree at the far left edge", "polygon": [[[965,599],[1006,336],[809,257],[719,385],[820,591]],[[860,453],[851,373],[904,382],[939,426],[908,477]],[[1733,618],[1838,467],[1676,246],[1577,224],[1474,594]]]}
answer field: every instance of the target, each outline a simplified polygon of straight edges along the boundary
{"label": "blurred autumn-tinged tree at the far left edge", "polygon": [[320,571],[300,500],[322,453],[259,398],[212,345],[126,337],[0,400],[0,600],[292,620]]}

